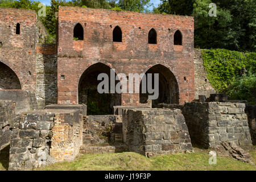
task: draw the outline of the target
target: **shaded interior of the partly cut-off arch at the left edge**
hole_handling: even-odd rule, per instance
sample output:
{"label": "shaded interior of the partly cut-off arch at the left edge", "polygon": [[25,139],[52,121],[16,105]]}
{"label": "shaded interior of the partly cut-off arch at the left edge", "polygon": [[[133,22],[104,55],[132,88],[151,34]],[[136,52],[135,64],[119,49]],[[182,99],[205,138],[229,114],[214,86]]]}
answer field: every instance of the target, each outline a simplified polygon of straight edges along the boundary
{"label": "shaded interior of the partly cut-off arch at the left edge", "polygon": [[22,89],[18,76],[6,64],[0,62],[0,89]]}

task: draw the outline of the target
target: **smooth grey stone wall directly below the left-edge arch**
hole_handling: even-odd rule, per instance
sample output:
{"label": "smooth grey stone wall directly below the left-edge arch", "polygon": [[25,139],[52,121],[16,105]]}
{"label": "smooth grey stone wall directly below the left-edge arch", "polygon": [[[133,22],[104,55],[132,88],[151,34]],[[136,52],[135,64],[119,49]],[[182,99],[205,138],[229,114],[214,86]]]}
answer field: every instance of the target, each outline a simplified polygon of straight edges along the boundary
{"label": "smooth grey stone wall directly below the left-edge arch", "polygon": [[30,90],[0,90],[0,100],[15,103],[15,113],[38,109],[35,93]]}

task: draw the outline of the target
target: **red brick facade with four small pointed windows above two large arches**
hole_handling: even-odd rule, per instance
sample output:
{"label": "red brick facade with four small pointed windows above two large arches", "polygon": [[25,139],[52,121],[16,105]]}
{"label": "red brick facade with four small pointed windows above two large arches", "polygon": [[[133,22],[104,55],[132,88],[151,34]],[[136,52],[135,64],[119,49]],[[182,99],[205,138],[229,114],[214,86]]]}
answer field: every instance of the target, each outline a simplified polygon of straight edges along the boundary
{"label": "red brick facade with four small pointed windows above two large arches", "polygon": [[[73,40],[77,23],[84,28],[84,40]],[[112,41],[117,25],[122,30],[122,43]],[[77,104],[79,79],[86,68],[98,62],[126,75],[145,73],[162,64],[176,77],[180,104],[194,99],[193,17],[59,7],[57,27],[59,104]],[[158,44],[147,43],[151,28],[157,32]],[[183,46],[174,46],[176,30],[183,34]],[[122,96],[122,105],[137,105],[138,101],[138,94]]]}

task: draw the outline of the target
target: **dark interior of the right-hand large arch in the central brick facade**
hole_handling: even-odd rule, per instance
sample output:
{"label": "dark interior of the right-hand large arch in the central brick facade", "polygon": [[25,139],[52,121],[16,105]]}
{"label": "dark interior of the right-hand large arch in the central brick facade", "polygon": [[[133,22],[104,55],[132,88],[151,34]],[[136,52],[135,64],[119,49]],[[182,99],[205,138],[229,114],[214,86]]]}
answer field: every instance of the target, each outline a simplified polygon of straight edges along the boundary
{"label": "dark interior of the right-hand large arch in the central brick facade", "polygon": [[[152,100],[152,107],[157,107],[158,104],[179,104],[179,88],[176,78],[170,69],[163,65],[157,64],[148,69],[144,75],[147,79],[147,73],[152,73],[152,86],[154,88],[154,73],[159,73],[159,97]],[[147,103],[149,93],[142,93],[142,83],[140,85],[139,102]]]}

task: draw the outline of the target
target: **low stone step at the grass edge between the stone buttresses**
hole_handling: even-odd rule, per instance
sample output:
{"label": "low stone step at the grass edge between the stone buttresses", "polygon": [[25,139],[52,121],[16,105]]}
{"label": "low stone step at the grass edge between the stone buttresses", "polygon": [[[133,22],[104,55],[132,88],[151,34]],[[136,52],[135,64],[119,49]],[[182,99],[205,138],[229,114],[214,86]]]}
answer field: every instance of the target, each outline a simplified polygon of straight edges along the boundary
{"label": "low stone step at the grass edge between the stone buttresses", "polygon": [[81,154],[104,154],[104,153],[117,153],[128,151],[128,147],[123,144],[114,145],[114,146],[99,146],[99,145],[86,145],[83,144],[80,147]]}

